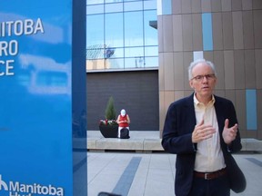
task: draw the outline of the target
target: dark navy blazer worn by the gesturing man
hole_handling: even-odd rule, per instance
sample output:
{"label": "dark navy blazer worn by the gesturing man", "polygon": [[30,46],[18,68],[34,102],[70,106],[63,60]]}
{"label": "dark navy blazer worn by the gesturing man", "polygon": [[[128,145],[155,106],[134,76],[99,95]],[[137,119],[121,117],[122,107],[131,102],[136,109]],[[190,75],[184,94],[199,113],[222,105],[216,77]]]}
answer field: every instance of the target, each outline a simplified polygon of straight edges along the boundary
{"label": "dark navy blazer worn by the gesturing man", "polygon": [[[220,144],[227,165],[230,164],[231,153],[242,148],[239,132],[230,146],[227,146],[222,137],[225,120],[229,120],[228,127],[231,127],[237,123],[237,115],[231,101],[218,96],[215,99]],[[162,146],[166,152],[176,154],[176,196],[186,196],[191,189],[197,151],[197,144],[192,143],[195,126],[194,93],[170,104],[166,113]]]}

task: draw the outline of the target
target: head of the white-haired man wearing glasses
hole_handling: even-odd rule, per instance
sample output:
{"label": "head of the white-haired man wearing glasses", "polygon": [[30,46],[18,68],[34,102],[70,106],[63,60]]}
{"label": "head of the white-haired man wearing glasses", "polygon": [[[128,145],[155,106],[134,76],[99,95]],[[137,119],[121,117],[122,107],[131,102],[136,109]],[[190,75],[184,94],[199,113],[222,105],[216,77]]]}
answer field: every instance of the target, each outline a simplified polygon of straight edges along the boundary
{"label": "head of the white-haired man wearing glasses", "polygon": [[198,101],[207,101],[217,83],[215,65],[205,59],[192,62],[188,67],[188,78],[191,88],[196,92]]}

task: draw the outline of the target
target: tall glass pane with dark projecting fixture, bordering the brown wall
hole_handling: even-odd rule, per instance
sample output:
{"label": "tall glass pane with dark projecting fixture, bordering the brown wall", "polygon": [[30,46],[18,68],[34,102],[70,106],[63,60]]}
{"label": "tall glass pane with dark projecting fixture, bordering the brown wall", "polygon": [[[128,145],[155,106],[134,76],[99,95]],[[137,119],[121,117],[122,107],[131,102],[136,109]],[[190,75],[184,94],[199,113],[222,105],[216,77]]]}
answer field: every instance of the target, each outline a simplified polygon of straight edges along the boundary
{"label": "tall glass pane with dark projecting fixture, bordering the brown wall", "polygon": [[148,10],[144,12],[145,20],[145,45],[157,45],[157,29],[150,22],[157,23],[156,10]]}

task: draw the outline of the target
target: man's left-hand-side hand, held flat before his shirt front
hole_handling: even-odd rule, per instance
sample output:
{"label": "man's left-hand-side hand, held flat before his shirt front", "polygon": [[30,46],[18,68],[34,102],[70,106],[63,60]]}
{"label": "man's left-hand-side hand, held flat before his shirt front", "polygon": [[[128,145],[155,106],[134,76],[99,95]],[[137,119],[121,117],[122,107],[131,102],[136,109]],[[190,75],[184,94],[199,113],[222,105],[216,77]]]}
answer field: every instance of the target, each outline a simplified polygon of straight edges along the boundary
{"label": "man's left-hand-side hand, held flat before his shirt front", "polygon": [[216,129],[210,124],[204,124],[204,119],[196,124],[194,131],[192,132],[192,142],[201,142],[211,138],[216,132]]}

